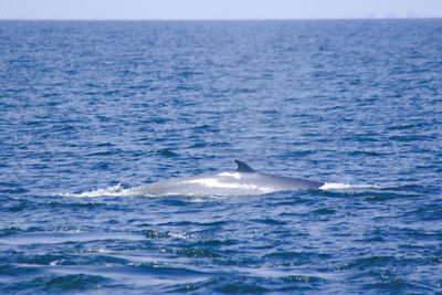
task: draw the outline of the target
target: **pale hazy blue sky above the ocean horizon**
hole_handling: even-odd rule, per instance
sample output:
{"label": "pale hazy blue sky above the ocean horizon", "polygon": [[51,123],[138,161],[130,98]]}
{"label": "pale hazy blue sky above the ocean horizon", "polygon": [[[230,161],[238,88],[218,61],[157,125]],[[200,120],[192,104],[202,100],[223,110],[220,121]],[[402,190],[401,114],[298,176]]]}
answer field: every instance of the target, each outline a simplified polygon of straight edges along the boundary
{"label": "pale hazy blue sky above the ocean horizon", "polygon": [[442,0],[0,0],[0,19],[441,18]]}

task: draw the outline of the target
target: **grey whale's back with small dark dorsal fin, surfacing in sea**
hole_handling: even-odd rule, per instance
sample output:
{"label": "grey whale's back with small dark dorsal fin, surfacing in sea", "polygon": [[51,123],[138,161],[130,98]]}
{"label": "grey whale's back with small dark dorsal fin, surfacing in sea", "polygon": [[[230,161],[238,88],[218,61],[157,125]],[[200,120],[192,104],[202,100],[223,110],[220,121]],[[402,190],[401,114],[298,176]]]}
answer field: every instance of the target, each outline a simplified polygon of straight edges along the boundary
{"label": "grey whale's back with small dark dorsal fin, surfacing in sea", "polygon": [[234,160],[236,170],[217,175],[176,178],[130,189],[145,197],[164,196],[259,196],[277,191],[319,189],[325,182],[302,178],[274,176],[255,171],[243,161]]}

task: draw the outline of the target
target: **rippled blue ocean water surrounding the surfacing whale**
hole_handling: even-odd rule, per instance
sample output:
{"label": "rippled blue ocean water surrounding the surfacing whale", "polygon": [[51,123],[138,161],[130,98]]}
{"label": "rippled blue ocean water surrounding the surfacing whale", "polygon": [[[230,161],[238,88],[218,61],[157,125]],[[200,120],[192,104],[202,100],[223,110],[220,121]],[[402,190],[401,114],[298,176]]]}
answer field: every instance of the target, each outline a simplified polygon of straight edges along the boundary
{"label": "rippled blue ocean water surrounding the surfacing whale", "polygon": [[[441,294],[442,20],[1,21],[0,293]],[[329,185],[124,193],[235,169]]]}

